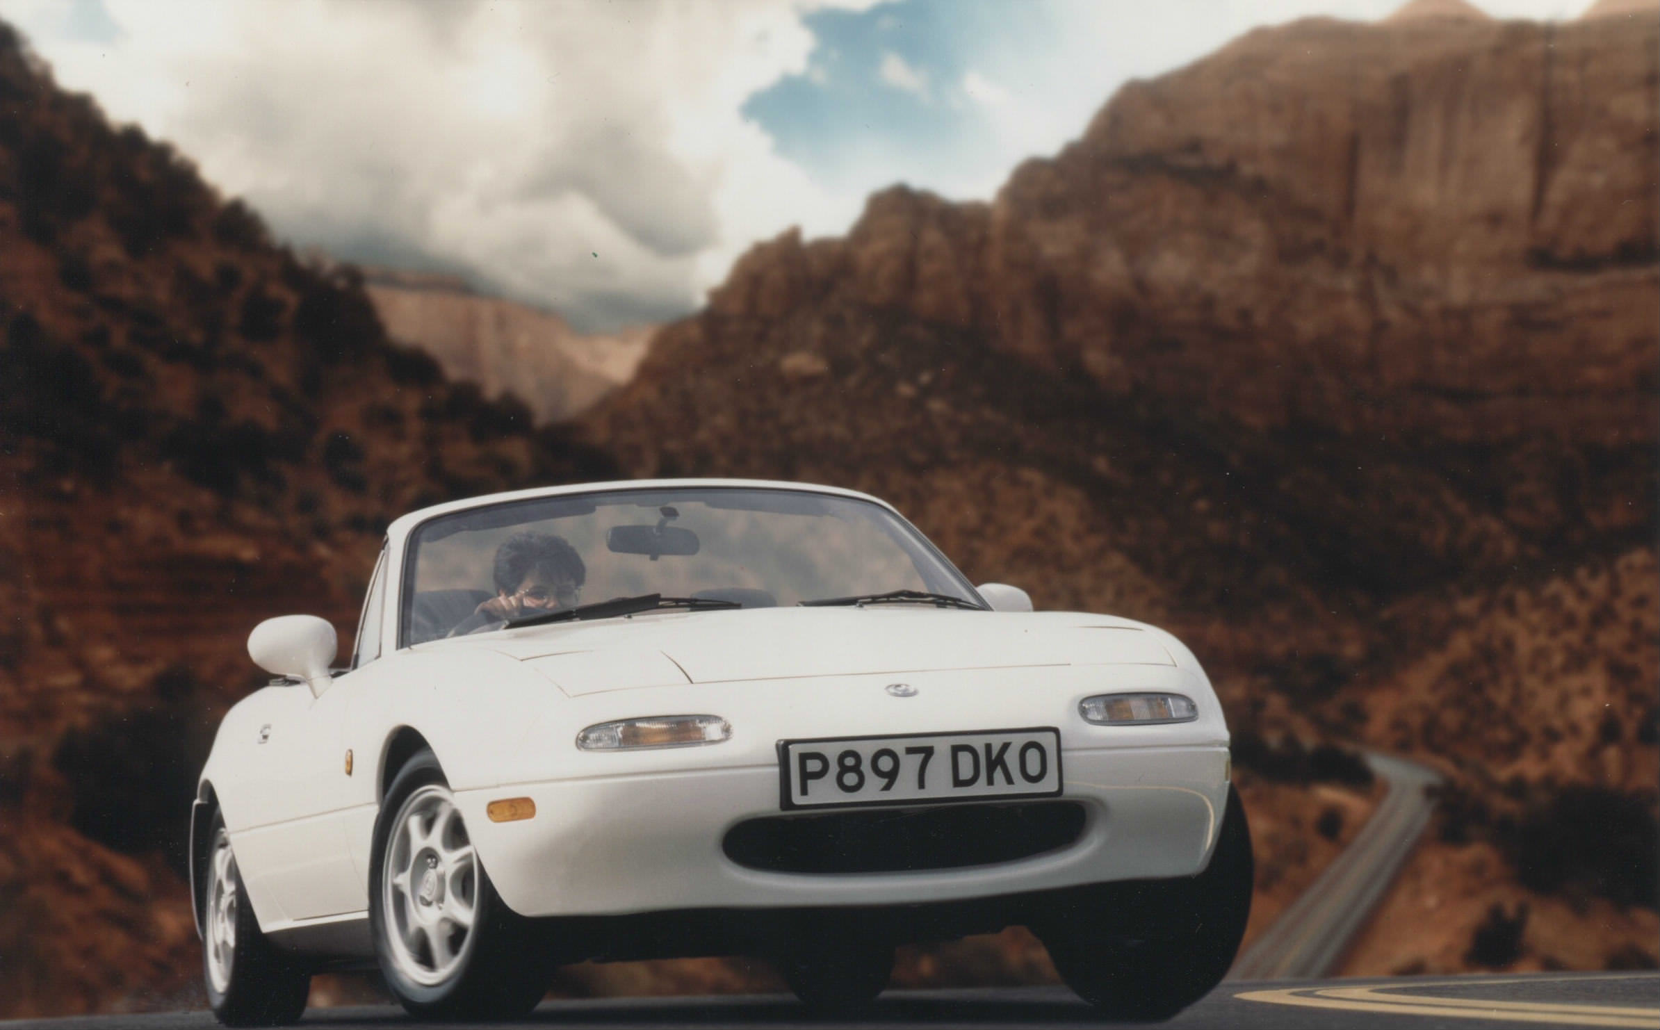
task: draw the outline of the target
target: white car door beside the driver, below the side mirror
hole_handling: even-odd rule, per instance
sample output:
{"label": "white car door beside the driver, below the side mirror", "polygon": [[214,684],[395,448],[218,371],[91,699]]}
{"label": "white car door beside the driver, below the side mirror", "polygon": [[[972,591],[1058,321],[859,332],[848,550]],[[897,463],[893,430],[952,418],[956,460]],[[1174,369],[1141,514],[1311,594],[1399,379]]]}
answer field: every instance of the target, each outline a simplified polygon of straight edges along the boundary
{"label": "white car door beside the driver, below the side mirror", "polygon": [[[377,607],[383,564],[385,554],[370,579],[365,622]],[[357,639],[354,663],[364,658],[362,627]],[[251,786],[266,823],[239,834],[237,858],[257,869],[262,892],[286,919],[340,916],[367,906],[347,846],[357,770],[347,758],[344,723],[357,678],[355,670],[342,672],[315,697],[305,685],[281,688],[282,697],[266,710],[257,730]]]}

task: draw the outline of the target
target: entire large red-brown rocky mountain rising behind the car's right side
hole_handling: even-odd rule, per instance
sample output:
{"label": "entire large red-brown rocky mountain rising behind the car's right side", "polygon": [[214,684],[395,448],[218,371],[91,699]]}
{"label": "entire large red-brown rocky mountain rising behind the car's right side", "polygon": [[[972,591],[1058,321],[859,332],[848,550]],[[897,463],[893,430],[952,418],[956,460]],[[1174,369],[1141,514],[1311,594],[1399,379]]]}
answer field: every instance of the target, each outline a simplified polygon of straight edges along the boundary
{"label": "entire large red-brown rocky mountain rising behind the car's right side", "polygon": [[[1657,88],[1652,10],[1258,30],[991,204],[755,247],[586,425],[872,489],[976,579],[1179,630],[1245,733],[1443,765],[1421,861],[1467,882],[1373,967],[1494,964],[1512,887],[1577,901],[1497,964],[1652,964]],[[1542,844],[1570,791],[1617,858]]]}

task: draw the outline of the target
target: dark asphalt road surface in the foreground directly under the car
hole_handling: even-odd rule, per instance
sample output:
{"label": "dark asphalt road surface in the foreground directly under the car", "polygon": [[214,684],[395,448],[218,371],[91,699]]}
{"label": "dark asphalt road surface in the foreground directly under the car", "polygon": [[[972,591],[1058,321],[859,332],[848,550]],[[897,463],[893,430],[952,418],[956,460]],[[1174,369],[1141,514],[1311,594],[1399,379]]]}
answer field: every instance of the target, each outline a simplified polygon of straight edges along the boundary
{"label": "dark asphalt road surface in the foreground directly under the car", "polygon": [[[1059,987],[895,990],[858,1020],[815,1020],[793,998],[616,998],[546,1002],[513,1027],[1101,1027],[1094,1010]],[[100,1015],[0,1023],[7,1030],[208,1030],[208,1012]],[[387,1007],[327,1008],[304,1025],[327,1030],[410,1025]],[[1516,977],[1396,977],[1389,980],[1286,980],[1223,984],[1167,1027],[1230,1030],[1491,1030],[1497,1027],[1647,1027],[1660,1030],[1660,974],[1540,974]]]}

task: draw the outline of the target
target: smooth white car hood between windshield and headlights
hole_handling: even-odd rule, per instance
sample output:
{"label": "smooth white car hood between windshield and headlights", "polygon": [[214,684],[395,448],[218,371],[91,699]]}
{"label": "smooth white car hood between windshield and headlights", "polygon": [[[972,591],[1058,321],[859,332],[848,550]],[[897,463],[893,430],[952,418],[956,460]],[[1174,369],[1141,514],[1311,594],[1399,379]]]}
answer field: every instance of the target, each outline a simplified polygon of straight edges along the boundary
{"label": "smooth white car hood between windshield and headlights", "polygon": [[1033,665],[1174,665],[1137,622],[1071,612],[745,609],[526,627],[430,647],[481,647],[569,695],[637,687]]}

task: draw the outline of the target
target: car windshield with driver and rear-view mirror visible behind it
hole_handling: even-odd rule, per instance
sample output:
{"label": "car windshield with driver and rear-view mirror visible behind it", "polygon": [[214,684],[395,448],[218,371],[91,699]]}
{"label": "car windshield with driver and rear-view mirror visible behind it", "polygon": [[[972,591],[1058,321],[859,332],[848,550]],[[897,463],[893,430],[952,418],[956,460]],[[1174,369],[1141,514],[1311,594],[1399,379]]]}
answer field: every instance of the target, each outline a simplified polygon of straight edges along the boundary
{"label": "car windshield with driver and rear-view mirror visible behind it", "polygon": [[[979,607],[933,546],[880,504],[785,489],[672,488],[471,508],[410,534],[403,644],[661,594],[775,607],[893,590]],[[729,605],[682,605],[681,610]]]}

